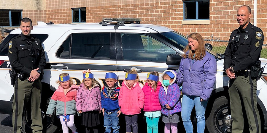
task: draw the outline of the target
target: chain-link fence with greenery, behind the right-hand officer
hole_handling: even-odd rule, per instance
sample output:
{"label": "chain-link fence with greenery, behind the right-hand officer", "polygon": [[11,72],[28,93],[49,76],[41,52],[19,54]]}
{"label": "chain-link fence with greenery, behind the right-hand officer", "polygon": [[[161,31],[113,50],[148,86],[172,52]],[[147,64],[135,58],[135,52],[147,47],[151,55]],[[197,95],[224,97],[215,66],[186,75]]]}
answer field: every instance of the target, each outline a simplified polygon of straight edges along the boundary
{"label": "chain-link fence with greenery, behind the right-hand officer", "polygon": [[[229,40],[220,40],[220,38],[214,38],[213,36],[209,38],[204,38],[204,42],[209,43],[212,45],[212,51],[214,53],[223,54],[225,52],[225,49],[228,45]],[[263,44],[260,58],[266,58],[267,59],[267,44]]]}

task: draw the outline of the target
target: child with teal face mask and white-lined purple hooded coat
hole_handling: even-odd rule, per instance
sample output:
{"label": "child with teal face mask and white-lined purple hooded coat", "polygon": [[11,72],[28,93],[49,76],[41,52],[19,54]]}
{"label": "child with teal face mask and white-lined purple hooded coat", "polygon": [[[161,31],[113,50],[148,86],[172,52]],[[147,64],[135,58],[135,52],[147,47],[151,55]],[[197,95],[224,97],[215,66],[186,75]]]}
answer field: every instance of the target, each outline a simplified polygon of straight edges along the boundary
{"label": "child with teal face mask and white-lined purple hooded coat", "polygon": [[179,122],[178,112],[181,112],[180,89],[177,82],[177,73],[173,70],[163,72],[160,81],[163,83],[160,87],[158,98],[162,106],[162,121],[165,123],[165,133],[177,133]]}

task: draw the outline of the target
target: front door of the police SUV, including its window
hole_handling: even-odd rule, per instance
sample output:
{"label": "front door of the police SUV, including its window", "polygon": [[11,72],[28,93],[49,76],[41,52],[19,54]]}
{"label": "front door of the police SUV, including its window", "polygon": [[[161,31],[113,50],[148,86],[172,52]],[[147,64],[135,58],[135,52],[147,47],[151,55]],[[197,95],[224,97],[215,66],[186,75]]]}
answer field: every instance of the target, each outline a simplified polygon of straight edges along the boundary
{"label": "front door of the police SUV, including its window", "polygon": [[179,66],[168,66],[168,54],[177,53],[170,44],[160,38],[153,37],[152,33],[144,31],[116,30],[117,67],[120,82],[125,79],[125,72],[136,69],[140,82],[145,83],[147,73],[159,72],[160,76],[167,69],[177,70]]}

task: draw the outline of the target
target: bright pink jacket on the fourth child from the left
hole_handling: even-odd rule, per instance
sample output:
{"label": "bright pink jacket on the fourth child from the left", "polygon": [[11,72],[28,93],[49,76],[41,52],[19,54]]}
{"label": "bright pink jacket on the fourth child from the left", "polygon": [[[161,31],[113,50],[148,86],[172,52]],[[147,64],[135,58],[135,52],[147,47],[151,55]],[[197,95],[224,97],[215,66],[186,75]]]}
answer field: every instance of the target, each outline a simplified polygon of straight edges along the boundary
{"label": "bright pink jacket on the fourth child from the left", "polygon": [[125,115],[134,115],[141,113],[144,107],[144,92],[138,83],[129,89],[125,84],[125,80],[120,88],[119,106],[121,113]]}

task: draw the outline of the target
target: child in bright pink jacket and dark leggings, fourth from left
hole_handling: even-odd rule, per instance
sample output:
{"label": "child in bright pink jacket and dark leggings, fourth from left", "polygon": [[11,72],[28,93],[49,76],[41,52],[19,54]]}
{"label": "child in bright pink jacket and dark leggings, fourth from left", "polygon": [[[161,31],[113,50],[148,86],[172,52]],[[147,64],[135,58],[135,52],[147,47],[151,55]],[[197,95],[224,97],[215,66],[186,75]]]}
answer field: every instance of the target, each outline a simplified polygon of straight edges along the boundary
{"label": "child in bright pink jacket and dark leggings, fourth from left", "polygon": [[137,119],[141,109],[144,107],[144,92],[139,86],[139,76],[135,69],[125,74],[125,80],[120,88],[119,107],[121,113],[125,114],[126,133],[138,133]]}

